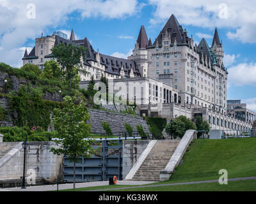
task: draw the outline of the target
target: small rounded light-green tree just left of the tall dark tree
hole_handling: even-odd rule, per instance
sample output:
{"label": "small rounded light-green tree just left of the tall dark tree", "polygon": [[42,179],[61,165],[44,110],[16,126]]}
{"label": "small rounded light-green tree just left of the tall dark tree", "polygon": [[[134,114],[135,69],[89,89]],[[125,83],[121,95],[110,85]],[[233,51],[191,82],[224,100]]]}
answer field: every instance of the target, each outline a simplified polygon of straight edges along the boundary
{"label": "small rounded light-green tree just left of the tall dark tree", "polygon": [[61,79],[61,69],[58,63],[54,60],[50,60],[44,63],[44,69],[40,75],[42,78],[49,78],[53,80]]}

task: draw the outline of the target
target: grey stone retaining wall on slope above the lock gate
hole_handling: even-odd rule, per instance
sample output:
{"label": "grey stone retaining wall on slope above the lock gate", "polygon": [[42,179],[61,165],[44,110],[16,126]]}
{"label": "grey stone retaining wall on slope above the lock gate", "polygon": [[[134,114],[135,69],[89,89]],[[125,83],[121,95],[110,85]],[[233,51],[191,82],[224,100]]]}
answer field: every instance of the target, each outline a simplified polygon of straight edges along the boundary
{"label": "grey stone retaining wall on slope above the lock gate", "polygon": [[125,123],[130,124],[134,131],[137,131],[136,124],[141,124],[144,131],[149,133],[147,121],[142,117],[100,110],[89,110],[89,114],[91,118],[88,123],[92,124],[92,133],[105,133],[102,122],[108,122],[113,133],[125,132]]}

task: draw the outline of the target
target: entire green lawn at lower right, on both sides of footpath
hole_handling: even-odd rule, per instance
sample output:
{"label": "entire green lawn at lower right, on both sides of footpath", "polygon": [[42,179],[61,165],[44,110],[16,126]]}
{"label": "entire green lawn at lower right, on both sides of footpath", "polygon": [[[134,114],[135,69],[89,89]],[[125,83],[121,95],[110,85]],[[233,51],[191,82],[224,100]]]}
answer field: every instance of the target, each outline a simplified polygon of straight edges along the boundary
{"label": "entire green lawn at lower right, on both sides of footpath", "polygon": [[[232,138],[228,140],[195,140],[184,154],[170,180],[148,184],[147,191],[255,191],[255,180],[218,183],[188,184],[182,186],[151,187],[156,184],[219,179],[219,170],[228,171],[228,179],[256,176],[256,138]],[[254,186],[253,186],[254,185]],[[111,188],[124,186],[111,186]],[[109,186],[90,187],[79,191],[108,189]],[[146,188],[145,188],[146,189]],[[143,191],[143,189],[127,189]]]}

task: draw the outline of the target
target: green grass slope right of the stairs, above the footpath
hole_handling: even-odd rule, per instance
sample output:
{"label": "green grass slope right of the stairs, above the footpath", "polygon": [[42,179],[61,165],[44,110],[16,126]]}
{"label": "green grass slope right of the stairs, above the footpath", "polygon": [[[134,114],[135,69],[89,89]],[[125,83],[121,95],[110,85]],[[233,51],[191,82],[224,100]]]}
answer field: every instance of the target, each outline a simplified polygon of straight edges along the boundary
{"label": "green grass slope right of the stairs, above the footpath", "polygon": [[184,154],[170,180],[161,183],[219,179],[219,170],[228,179],[256,176],[256,138],[195,140]]}

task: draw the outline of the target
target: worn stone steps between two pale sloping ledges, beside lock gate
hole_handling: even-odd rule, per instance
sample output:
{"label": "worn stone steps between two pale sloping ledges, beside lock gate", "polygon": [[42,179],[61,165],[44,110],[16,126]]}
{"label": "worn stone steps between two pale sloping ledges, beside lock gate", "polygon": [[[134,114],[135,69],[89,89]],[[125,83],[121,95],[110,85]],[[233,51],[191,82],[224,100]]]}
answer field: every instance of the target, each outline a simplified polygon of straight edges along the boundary
{"label": "worn stone steps between two pale sloping ledges, beside lock gate", "polygon": [[159,171],[166,167],[178,145],[173,140],[158,140],[132,180],[159,181]]}

